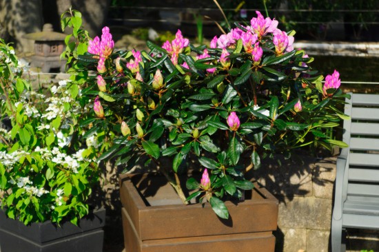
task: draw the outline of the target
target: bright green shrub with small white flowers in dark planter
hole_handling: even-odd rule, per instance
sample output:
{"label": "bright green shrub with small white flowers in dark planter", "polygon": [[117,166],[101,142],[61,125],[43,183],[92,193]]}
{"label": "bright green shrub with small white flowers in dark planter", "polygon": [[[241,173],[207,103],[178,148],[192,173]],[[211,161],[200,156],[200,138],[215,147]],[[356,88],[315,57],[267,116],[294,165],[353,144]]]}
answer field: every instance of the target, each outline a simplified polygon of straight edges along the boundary
{"label": "bright green shrub with small white flowers in dark planter", "polygon": [[91,143],[80,140],[85,132],[77,122],[88,108],[71,81],[43,94],[31,90],[24,70],[0,39],[0,114],[11,124],[0,129],[1,208],[25,224],[76,224],[88,214],[88,198],[100,176],[96,135],[87,139]]}

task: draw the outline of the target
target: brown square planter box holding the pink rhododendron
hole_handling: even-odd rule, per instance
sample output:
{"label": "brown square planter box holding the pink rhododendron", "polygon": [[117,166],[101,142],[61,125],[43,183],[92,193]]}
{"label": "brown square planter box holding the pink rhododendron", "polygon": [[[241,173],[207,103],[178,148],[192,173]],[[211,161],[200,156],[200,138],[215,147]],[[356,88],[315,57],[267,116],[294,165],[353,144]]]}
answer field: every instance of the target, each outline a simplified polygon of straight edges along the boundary
{"label": "brown square planter box holding the pink rhododendron", "polygon": [[126,252],[274,251],[278,200],[258,185],[243,202],[226,202],[229,220],[209,203],[184,205],[165,178],[121,176]]}

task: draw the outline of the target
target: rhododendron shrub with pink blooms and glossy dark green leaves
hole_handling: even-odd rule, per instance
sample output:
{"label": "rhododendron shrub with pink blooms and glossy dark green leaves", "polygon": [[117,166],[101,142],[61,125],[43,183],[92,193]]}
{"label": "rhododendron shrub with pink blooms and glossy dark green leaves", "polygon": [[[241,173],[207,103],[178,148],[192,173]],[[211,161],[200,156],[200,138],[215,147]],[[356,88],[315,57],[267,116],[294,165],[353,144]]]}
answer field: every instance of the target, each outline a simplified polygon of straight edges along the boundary
{"label": "rhododendron shrub with pink blooms and glossy dark green leaves", "polygon": [[[205,198],[221,218],[228,218],[222,200],[252,189],[247,167],[257,169],[278,153],[290,158],[307,145],[345,146],[325,134],[345,118],[338,73],[323,84],[314,59],[294,50],[295,32],[279,30],[260,12],[249,25],[235,25],[209,46],[192,45],[185,30],[163,45],[147,41],[149,51],[110,52],[108,41],[107,56],[101,36],[87,41],[99,49],[78,54],[72,77],[95,102],[81,125],[103,136],[99,161],[112,158],[127,171],[146,158],[183,202]],[[109,39],[112,31],[104,32]],[[198,191],[186,198],[178,174],[189,164],[203,178],[187,180]]]}

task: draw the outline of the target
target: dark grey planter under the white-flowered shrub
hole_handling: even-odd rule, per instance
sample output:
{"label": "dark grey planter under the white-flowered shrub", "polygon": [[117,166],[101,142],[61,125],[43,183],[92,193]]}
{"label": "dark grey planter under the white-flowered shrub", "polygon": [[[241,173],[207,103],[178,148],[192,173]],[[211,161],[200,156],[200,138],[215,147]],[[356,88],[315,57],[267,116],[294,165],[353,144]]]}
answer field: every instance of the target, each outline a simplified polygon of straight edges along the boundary
{"label": "dark grey planter under the white-flowered shrub", "polygon": [[0,209],[1,252],[102,252],[105,209],[79,220],[79,227],[64,222],[61,227],[47,221],[25,226],[6,217]]}

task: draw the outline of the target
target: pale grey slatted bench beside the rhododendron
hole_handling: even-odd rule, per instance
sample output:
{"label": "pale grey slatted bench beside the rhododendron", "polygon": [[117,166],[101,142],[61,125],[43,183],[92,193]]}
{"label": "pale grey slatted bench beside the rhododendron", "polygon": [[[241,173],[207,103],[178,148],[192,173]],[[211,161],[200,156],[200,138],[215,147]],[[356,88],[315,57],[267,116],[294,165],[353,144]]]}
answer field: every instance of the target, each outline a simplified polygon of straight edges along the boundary
{"label": "pale grey slatted bench beside the rhododendron", "polygon": [[332,252],[345,251],[342,229],[379,229],[379,95],[351,94],[343,125],[349,145],[337,159]]}

